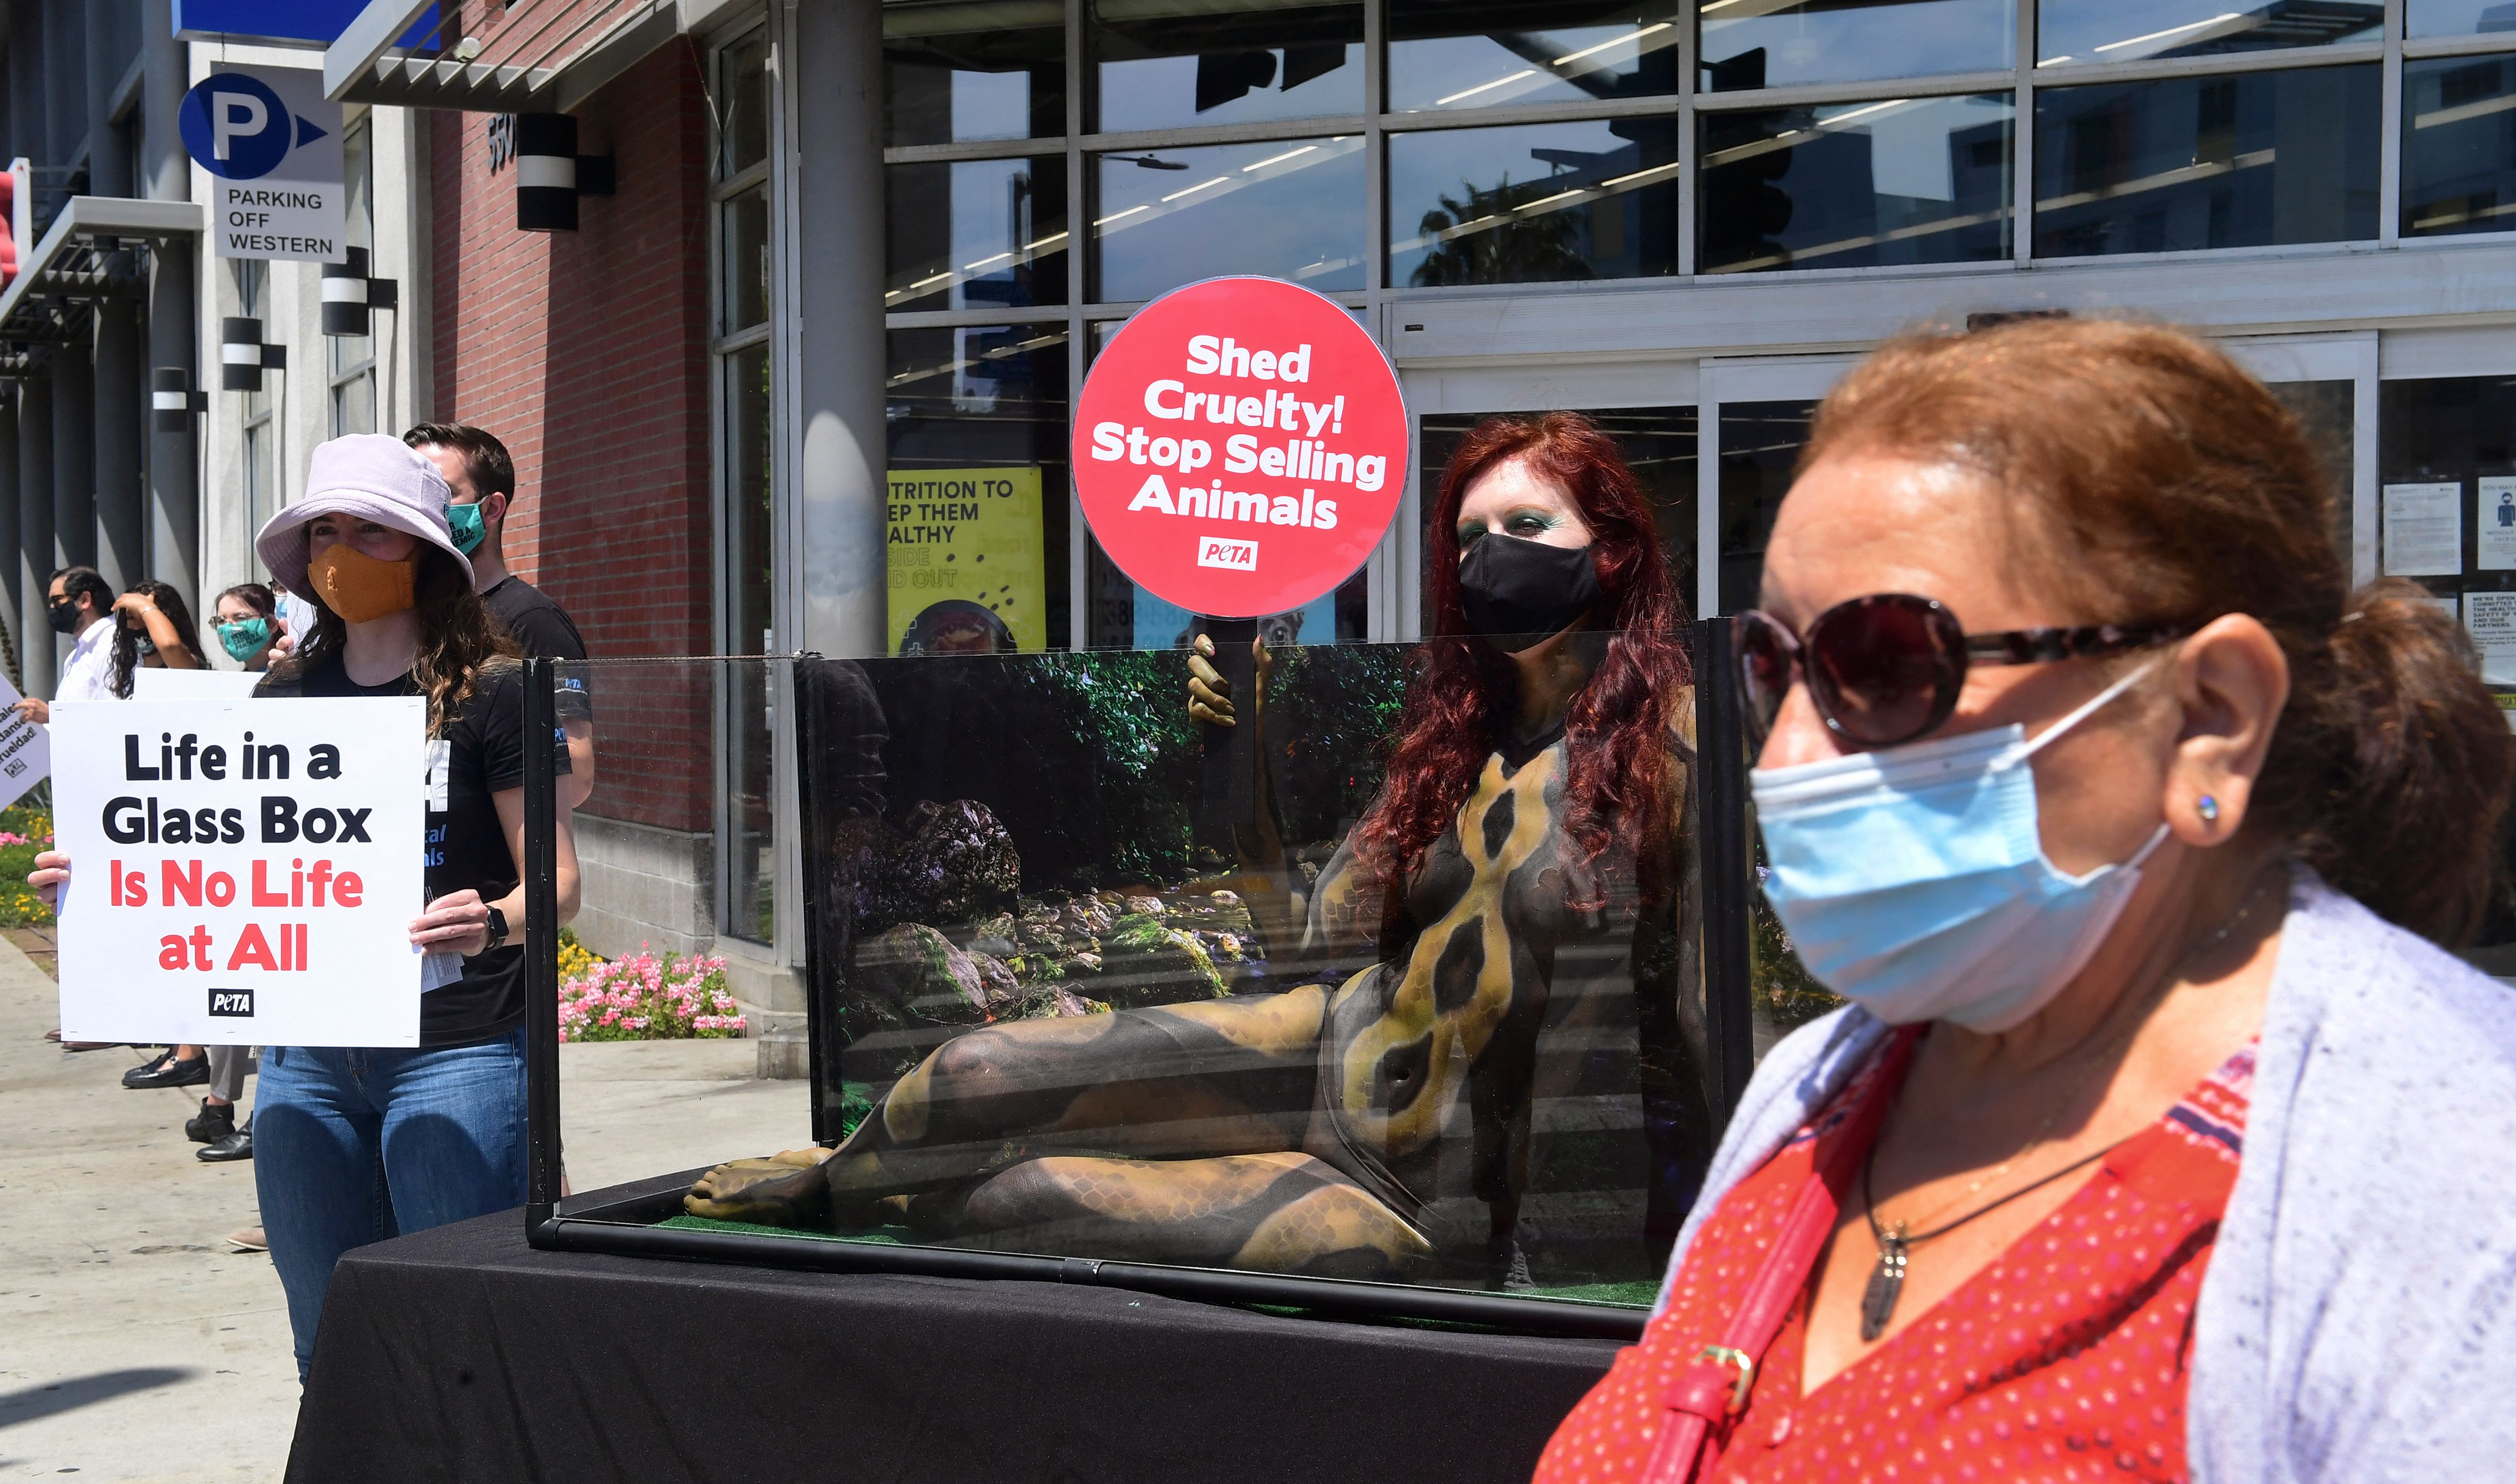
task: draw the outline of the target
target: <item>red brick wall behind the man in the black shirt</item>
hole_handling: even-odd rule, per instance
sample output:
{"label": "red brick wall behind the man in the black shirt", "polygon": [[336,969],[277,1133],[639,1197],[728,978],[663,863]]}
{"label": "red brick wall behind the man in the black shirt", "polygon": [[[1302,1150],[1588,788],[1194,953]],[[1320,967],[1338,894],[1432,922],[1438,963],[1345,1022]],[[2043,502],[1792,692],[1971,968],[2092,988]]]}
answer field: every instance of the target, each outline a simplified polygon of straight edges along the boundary
{"label": "red brick wall behind the man in the black shirt", "polygon": [[[513,163],[481,113],[430,116],[435,415],[516,455],[506,558],[559,599],[596,659],[710,654],[707,101],[687,40],[579,108],[616,196],[579,231],[516,231]],[[702,669],[596,672],[591,812],[704,830]]]}

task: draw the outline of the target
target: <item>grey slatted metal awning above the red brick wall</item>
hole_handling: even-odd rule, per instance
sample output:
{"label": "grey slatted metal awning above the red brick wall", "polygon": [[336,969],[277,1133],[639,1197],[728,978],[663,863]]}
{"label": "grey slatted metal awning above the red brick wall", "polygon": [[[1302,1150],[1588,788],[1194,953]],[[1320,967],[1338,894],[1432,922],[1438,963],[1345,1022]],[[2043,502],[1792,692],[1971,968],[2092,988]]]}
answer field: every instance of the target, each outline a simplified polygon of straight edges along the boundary
{"label": "grey slatted metal awning above the red brick wall", "polygon": [[[428,3],[367,0],[322,53],[325,96],[470,113],[574,113],[654,48],[740,0],[516,0],[481,38],[440,33],[445,50],[395,48]],[[458,55],[463,50],[473,55]]]}

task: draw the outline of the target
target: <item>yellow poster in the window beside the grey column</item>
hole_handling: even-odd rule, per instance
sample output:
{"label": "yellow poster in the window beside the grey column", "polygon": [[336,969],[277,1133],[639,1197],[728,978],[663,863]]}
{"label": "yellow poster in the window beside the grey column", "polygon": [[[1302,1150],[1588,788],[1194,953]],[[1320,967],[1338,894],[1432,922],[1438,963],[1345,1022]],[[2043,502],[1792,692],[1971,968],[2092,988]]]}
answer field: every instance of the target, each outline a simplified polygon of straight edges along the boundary
{"label": "yellow poster in the window beside the grey column", "polygon": [[891,654],[1049,646],[1039,465],[891,470]]}

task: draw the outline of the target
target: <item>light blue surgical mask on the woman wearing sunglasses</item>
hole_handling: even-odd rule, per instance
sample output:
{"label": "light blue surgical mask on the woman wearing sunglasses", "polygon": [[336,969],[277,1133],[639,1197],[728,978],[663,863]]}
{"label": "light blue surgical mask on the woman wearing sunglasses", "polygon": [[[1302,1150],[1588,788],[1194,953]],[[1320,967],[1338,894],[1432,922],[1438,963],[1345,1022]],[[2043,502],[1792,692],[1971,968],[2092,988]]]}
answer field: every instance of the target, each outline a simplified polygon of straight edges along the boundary
{"label": "light blue surgical mask on the woman wearing sunglasses", "polygon": [[1877,1019],[2005,1031],[2088,963],[2141,883],[2131,860],[2046,860],[2028,760],[2124,694],[2136,669],[2040,737],[1965,732],[1751,775],[1766,900],[1799,961]]}

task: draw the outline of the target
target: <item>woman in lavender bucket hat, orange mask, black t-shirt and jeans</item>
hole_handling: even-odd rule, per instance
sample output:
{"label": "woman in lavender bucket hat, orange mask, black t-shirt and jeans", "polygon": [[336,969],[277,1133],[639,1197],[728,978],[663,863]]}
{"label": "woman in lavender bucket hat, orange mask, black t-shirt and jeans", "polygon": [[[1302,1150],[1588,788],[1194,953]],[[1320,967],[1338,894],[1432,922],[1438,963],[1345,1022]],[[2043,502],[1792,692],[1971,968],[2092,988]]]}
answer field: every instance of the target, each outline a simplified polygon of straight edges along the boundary
{"label": "woman in lavender bucket hat, orange mask, black t-shirt and jeans", "polygon": [[[337,438],[314,450],[304,496],[257,538],[264,566],[307,594],[317,619],[254,694],[425,697],[428,734],[443,747],[443,792],[428,810],[430,900],[410,941],[448,968],[420,999],[420,1046],[264,1051],[254,1187],[299,1376],[345,1250],[523,1202],[518,860],[533,739],[521,669],[473,594],[445,498],[438,470],[400,440]],[[564,755],[556,762],[566,767]],[[566,921],[576,911],[566,810],[556,858]],[[30,880],[50,898],[68,875],[68,858],[48,850]]]}

